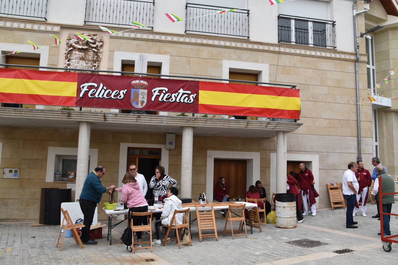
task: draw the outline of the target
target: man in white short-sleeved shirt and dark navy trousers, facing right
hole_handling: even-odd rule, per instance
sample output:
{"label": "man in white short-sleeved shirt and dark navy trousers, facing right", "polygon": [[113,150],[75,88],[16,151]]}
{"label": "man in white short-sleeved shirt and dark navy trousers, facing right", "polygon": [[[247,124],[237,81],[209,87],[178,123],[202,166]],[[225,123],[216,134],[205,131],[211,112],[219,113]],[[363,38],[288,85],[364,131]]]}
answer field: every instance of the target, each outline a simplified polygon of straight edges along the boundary
{"label": "man in white short-sleeved shirt and dark navy trousers, facing right", "polygon": [[354,222],[352,212],[355,207],[355,200],[357,198],[357,192],[359,190],[359,183],[355,177],[355,172],[357,172],[358,165],[355,162],[350,162],[348,164],[348,169],[345,170],[343,174],[343,196],[347,202],[347,212],[345,213],[345,227],[347,228],[358,228],[354,225],[358,222]]}

